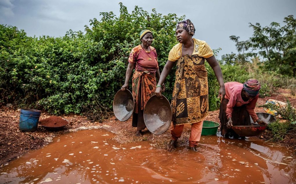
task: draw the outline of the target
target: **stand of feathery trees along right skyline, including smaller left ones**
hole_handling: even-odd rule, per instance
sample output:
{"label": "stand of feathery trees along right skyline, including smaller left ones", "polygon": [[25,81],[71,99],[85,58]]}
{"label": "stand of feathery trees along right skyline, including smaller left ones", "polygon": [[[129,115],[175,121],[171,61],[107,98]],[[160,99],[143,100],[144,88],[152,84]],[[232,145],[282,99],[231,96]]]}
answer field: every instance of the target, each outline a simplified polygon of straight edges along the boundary
{"label": "stand of feathery trees along right skyline, including smaller left ones", "polygon": [[[240,64],[251,62],[251,58],[260,56],[266,59],[263,68],[277,71],[289,77],[296,76],[296,19],[293,15],[284,18],[284,26],[271,22],[262,27],[259,23],[250,24],[253,35],[249,40],[239,41],[239,37],[230,36],[236,43],[238,54],[222,56],[222,63]],[[251,52],[246,52],[251,50]]]}

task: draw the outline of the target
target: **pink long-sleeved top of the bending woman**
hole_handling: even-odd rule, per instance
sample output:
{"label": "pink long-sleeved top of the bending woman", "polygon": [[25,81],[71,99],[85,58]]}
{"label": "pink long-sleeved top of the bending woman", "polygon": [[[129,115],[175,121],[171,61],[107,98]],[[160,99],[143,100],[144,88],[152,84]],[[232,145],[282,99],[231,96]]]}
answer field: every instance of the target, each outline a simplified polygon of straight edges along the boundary
{"label": "pink long-sleeved top of the bending woman", "polygon": [[226,116],[227,119],[229,117],[232,117],[232,111],[233,107],[240,107],[244,104],[247,104],[246,108],[249,112],[250,116],[252,117],[253,121],[256,122],[259,118],[255,113],[255,106],[256,102],[258,100],[259,94],[255,96],[254,98],[248,100],[245,102],[242,100],[241,92],[243,89],[243,84],[239,82],[226,82],[225,83],[225,98],[229,100],[227,106],[226,106]]}

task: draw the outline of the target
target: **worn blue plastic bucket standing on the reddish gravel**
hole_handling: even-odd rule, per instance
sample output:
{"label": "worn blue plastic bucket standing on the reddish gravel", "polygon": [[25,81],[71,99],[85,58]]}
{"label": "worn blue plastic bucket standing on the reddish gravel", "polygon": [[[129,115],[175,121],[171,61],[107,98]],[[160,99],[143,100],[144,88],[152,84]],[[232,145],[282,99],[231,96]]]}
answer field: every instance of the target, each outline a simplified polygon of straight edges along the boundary
{"label": "worn blue plastic bucket standing on the reddish gravel", "polygon": [[35,131],[35,130],[37,130],[40,115],[41,115],[40,110],[21,109],[20,110],[19,129],[20,130],[25,130],[25,131]]}

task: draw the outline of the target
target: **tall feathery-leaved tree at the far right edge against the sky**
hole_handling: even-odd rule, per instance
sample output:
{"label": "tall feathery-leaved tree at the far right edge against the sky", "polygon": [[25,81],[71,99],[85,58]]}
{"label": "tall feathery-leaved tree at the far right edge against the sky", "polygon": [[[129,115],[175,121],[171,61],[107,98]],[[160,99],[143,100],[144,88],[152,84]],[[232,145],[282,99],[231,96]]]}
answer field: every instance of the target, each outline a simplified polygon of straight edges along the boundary
{"label": "tall feathery-leaved tree at the far right edge against the sky", "polygon": [[284,18],[285,25],[271,22],[262,27],[259,23],[250,24],[253,36],[250,37],[251,47],[267,59],[266,69],[279,70],[281,74],[295,77],[296,75],[296,19],[293,15]]}

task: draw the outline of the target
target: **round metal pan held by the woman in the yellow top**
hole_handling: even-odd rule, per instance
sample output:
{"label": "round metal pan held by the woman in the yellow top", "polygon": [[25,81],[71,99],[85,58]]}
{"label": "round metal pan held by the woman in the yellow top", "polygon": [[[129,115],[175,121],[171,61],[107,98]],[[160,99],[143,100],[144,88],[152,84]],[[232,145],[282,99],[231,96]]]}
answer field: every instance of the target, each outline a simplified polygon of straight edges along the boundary
{"label": "round metal pan held by the woman in the yellow top", "polygon": [[144,122],[150,132],[162,134],[167,131],[172,117],[172,107],[165,96],[149,98],[144,108]]}

